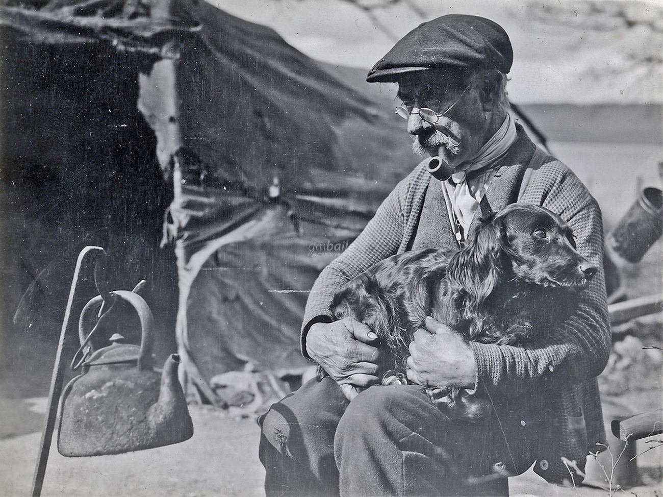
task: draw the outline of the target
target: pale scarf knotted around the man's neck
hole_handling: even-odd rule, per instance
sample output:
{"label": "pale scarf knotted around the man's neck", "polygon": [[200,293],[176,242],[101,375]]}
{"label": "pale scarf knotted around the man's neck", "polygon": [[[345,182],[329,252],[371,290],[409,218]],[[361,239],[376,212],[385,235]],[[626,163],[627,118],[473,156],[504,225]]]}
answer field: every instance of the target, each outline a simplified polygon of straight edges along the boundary
{"label": "pale scarf knotted around the man's neck", "polygon": [[[511,115],[507,113],[502,125],[495,132],[495,134],[479,149],[477,154],[471,159],[461,163],[461,171],[453,173],[450,180],[445,182],[445,187],[449,192],[452,200],[453,214],[455,220],[459,222],[463,228],[463,238],[467,234],[469,225],[474,218],[475,213],[479,210],[481,198],[488,190],[488,184],[495,174],[495,169],[489,168],[498,159],[503,157],[511,147],[512,143],[516,140],[516,124]],[[485,173],[481,173],[469,181],[465,180],[467,173],[470,171],[478,171],[479,169],[486,169]],[[456,232],[456,239],[460,240],[459,232],[455,227],[455,220],[452,222],[452,227]]]}

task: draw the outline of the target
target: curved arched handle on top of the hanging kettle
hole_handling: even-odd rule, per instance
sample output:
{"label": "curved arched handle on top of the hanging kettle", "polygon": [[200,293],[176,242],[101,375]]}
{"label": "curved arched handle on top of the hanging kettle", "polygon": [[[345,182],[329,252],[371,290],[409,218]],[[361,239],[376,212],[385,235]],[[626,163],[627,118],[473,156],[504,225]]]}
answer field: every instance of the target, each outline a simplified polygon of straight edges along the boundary
{"label": "curved arched handle on top of the hanging kettle", "polygon": [[[141,321],[141,353],[138,356],[138,368],[141,371],[152,370],[152,350],[154,348],[154,317],[149,305],[145,299],[129,290],[115,290],[111,295],[129,303],[136,311]],[[92,322],[91,314],[98,309],[103,302],[101,295],[97,295],[83,308],[80,319],[78,320],[78,336],[81,344],[84,344],[88,338],[88,326]]]}

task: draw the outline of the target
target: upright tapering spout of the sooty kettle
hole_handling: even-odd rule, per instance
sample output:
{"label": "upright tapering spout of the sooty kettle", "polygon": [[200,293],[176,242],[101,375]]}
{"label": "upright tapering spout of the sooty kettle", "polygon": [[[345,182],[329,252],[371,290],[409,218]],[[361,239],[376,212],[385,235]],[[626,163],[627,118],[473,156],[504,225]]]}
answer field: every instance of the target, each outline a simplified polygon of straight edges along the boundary
{"label": "upright tapering spout of the sooty kettle", "polygon": [[171,354],[161,372],[159,398],[149,411],[149,420],[156,433],[177,435],[182,440],[194,434],[194,426],[186,407],[184,391],[178,380],[177,368],[180,356]]}

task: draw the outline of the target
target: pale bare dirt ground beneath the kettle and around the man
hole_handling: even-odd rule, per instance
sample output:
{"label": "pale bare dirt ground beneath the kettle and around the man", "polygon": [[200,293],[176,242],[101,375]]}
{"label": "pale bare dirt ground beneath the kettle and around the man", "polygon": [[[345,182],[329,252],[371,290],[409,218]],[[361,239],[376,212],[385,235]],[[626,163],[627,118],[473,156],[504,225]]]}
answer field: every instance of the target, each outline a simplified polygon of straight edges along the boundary
{"label": "pale bare dirt ground beneath the kettle and around the man", "polygon": [[[45,399],[15,399],[30,412]],[[5,406],[6,407],[6,406]],[[17,407],[16,405],[14,407]],[[3,409],[3,412],[6,412]],[[66,458],[52,447],[42,495],[46,496],[224,496],[261,497],[265,472],[258,457],[259,429],[253,419],[231,419],[220,411],[192,406],[194,437],[186,442],[123,455]],[[0,441],[0,495],[29,495],[40,433]],[[646,444],[639,444],[644,450]],[[646,485],[619,494],[660,497],[661,453],[638,458]],[[546,483],[532,470],[510,478],[512,496],[602,497],[607,490]],[[363,496],[362,496],[363,497]]]}

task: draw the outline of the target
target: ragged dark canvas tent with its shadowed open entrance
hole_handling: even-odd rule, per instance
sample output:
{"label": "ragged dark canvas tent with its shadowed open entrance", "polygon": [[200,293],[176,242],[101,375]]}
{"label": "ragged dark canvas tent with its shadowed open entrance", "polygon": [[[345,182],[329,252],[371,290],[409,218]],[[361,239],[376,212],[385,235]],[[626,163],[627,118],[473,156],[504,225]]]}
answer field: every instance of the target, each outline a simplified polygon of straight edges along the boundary
{"label": "ragged dark canvas tent with its shadowed open entrance", "polygon": [[59,319],[100,244],[208,396],[248,362],[308,365],[314,279],[417,162],[402,124],[204,1],[2,0],[0,35],[3,327]]}

